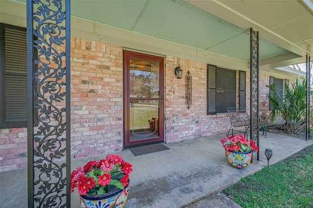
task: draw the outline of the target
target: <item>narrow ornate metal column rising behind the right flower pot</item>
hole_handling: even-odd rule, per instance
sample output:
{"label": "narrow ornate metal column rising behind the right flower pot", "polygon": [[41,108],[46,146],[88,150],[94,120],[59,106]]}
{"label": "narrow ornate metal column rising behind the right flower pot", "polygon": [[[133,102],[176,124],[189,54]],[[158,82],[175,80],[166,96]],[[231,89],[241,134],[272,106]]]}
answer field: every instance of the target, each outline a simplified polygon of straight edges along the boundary
{"label": "narrow ornate metal column rising behind the right flower pot", "polygon": [[[259,143],[259,31],[250,29],[250,139]],[[259,151],[260,152],[260,151]],[[259,160],[259,152],[257,160]]]}

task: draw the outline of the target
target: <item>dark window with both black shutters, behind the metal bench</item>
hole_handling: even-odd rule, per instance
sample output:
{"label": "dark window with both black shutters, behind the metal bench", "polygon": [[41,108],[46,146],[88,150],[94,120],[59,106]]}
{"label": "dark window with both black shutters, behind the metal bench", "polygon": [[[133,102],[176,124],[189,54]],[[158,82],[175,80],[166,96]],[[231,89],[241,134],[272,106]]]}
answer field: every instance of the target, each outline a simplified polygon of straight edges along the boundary
{"label": "dark window with both black shutters, behind the metal bench", "polygon": [[[236,107],[237,72],[215,65],[207,65],[207,115],[227,113]],[[239,107],[246,107],[246,72],[239,73]]]}

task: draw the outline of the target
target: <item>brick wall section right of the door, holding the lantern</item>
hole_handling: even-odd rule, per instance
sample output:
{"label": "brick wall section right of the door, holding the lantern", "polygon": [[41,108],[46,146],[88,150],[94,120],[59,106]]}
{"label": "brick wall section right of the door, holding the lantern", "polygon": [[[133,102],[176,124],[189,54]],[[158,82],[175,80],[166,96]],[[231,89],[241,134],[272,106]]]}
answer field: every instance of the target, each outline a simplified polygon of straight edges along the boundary
{"label": "brick wall section right of the door, holding the lantern", "polygon": [[[177,79],[174,69],[183,70]],[[206,63],[165,57],[165,140],[166,143],[225,133],[230,121],[227,114],[206,115]],[[185,75],[192,75],[192,105],[185,104]]]}

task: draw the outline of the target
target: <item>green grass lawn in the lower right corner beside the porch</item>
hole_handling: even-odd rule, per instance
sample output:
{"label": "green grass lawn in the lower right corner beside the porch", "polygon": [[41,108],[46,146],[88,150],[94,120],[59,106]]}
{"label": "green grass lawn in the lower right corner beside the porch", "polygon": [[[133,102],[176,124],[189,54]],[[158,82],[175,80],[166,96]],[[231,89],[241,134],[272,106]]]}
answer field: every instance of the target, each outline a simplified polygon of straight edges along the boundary
{"label": "green grass lawn in the lower right corner beside the porch", "polygon": [[223,193],[243,208],[313,208],[313,145]]}

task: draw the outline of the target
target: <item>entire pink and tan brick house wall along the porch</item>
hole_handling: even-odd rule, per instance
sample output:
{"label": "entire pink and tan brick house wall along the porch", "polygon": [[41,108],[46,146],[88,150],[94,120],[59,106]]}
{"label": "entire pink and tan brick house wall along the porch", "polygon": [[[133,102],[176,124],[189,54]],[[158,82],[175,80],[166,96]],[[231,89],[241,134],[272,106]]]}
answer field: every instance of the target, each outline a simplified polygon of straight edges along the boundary
{"label": "entire pink and tan brick house wall along the porch", "polygon": [[[71,38],[71,157],[123,148],[122,47]],[[166,143],[225,133],[227,114],[206,115],[206,63],[165,57]],[[174,74],[180,64],[181,79]],[[185,75],[192,75],[192,105],[185,103]],[[246,73],[246,108],[250,108]],[[268,112],[268,76],[260,76],[260,108]],[[27,129],[0,129],[0,171],[27,166]]]}

